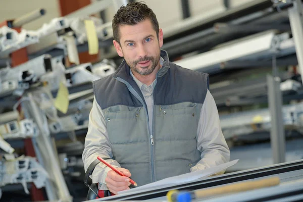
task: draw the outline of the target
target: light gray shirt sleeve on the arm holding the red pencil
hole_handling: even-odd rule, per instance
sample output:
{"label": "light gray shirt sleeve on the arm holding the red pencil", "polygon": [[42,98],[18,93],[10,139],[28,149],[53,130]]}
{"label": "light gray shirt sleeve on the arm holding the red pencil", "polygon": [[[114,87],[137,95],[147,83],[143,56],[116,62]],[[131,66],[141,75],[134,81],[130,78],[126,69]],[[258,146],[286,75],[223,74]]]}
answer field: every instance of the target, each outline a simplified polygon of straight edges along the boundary
{"label": "light gray shirt sleeve on the arm holding the red pencil", "polygon": [[[112,145],[109,140],[105,117],[95,98],[89,114],[88,131],[84,146],[82,160],[85,171],[88,166],[97,159],[97,156],[101,158],[113,158]],[[107,160],[107,162],[116,168],[121,167],[115,160]],[[99,163],[92,173],[92,183],[103,183],[101,186],[99,184],[99,189],[108,190],[105,178],[110,170],[111,169],[105,164]]]}

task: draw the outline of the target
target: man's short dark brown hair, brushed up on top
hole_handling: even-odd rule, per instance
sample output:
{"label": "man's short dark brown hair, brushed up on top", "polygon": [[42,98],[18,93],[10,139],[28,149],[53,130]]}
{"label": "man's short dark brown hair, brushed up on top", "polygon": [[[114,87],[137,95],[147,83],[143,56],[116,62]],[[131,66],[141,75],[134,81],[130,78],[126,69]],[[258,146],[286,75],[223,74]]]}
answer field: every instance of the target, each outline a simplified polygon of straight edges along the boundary
{"label": "man's short dark brown hair, brushed up on top", "polygon": [[120,43],[119,26],[120,25],[136,25],[149,19],[153,24],[154,30],[159,34],[159,23],[155,13],[144,2],[128,3],[126,6],[122,6],[113,19],[113,36],[118,43]]}

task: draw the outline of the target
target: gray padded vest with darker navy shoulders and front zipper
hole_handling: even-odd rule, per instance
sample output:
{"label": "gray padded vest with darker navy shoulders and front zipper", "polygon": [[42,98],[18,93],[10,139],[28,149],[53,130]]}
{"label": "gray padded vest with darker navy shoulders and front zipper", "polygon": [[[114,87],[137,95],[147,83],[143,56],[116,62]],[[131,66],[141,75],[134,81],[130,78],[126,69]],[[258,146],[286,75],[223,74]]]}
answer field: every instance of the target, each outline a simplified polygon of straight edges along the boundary
{"label": "gray padded vest with darker navy shoulders and front zipper", "polygon": [[93,82],[113,159],[130,170],[138,185],[188,173],[200,160],[196,131],[209,76],[170,63],[165,51],[161,56],[164,64],[154,89],[154,134],[149,131],[143,95],[125,61],[113,75]]}

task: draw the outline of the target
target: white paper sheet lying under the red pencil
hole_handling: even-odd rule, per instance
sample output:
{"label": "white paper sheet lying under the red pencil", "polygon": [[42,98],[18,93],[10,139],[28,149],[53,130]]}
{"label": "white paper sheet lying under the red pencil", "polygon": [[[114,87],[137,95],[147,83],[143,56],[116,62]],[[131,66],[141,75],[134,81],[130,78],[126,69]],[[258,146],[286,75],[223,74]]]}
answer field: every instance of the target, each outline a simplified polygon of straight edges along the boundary
{"label": "white paper sheet lying under the red pencil", "polygon": [[132,188],[130,190],[119,191],[118,194],[126,194],[126,193],[139,192],[139,191],[140,192],[141,191],[149,191],[149,190],[153,190],[153,189],[164,188],[164,187],[169,186],[169,185],[191,182],[191,181],[197,180],[199,178],[205,178],[205,177],[209,177],[213,174],[219,173],[219,172],[227,169],[228,167],[233,166],[237,162],[238,162],[238,159],[234,160],[234,161],[231,161],[231,162],[227,162],[225,164],[221,164],[219,166],[208,168],[208,169],[205,169],[205,170],[200,170],[200,171],[185,173],[185,174],[174,176],[174,177],[165,178],[163,180],[159,180],[157,182],[145,184],[143,186]]}

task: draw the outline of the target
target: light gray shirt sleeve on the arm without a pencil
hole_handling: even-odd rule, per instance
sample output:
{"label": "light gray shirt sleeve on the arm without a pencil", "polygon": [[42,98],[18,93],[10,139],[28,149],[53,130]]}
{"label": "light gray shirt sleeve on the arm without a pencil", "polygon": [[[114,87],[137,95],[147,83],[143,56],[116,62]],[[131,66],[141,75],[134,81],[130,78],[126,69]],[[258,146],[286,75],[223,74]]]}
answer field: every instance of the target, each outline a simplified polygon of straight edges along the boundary
{"label": "light gray shirt sleeve on the arm without a pencil", "polygon": [[201,108],[196,139],[201,160],[190,169],[191,172],[229,162],[230,151],[221,130],[215,100],[209,90]]}

